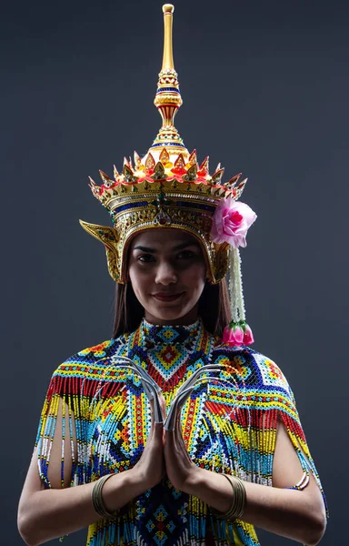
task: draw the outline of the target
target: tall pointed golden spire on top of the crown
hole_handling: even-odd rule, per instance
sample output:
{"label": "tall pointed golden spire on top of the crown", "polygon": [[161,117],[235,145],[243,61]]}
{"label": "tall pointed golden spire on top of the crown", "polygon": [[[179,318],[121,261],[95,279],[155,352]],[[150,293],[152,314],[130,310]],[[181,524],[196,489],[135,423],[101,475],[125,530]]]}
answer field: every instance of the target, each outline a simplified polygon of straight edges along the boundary
{"label": "tall pointed golden spire on top of the crown", "polygon": [[157,91],[154,104],[163,119],[155,141],[149,151],[155,151],[165,147],[169,154],[183,154],[186,159],[189,156],[184,142],[175,128],[174,120],[178,108],[183,100],[179,91],[177,73],[175,72],[174,55],[172,46],[172,25],[175,6],[172,4],[163,5],[164,12],[164,55],[163,66],[159,74]]}

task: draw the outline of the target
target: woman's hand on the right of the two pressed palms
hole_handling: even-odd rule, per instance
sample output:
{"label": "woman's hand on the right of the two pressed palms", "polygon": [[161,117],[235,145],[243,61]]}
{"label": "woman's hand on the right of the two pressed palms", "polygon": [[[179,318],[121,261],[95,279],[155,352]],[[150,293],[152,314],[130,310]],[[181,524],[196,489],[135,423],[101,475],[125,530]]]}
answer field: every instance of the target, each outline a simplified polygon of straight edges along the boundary
{"label": "woman's hand on the right of the two pressed palms", "polygon": [[165,467],[168,479],[175,489],[190,493],[201,470],[190,459],[181,427],[181,409],[175,418],[175,430],[165,431]]}

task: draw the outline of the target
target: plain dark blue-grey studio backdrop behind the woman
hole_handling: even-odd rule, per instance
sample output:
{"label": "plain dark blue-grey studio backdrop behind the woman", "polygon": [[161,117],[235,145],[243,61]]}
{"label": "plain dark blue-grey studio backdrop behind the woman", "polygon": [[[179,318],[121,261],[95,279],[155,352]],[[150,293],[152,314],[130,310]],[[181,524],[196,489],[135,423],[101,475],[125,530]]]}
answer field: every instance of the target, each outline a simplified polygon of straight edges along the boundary
{"label": "plain dark blue-grey studio backdrop behind the woman", "polygon": [[[52,372],[111,333],[105,252],[77,219],[108,224],[87,176],[143,155],[160,126],[161,5],[2,7],[4,545],[23,543],[16,505]],[[199,160],[222,162],[224,180],[249,177],[247,316],[255,348],[294,389],[331,510],[324,546],[348,543],[347,12],[335,1],[175,3],[176,125]]]}

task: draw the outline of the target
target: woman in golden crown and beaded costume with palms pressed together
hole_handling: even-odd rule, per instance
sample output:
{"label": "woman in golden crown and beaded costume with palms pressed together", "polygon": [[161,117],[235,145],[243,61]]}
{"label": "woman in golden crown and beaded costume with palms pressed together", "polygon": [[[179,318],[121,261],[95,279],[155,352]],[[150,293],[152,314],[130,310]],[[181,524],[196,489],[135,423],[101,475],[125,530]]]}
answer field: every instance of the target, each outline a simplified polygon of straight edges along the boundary
{"label": "woman in golden crown and beaded costume with palms pressed together", "polygon": [[83,223],[117,283],[115,335],[55,371],[19,531],[30,545],[89,526],[95,546],[223,546],[258,544],[257,526],[317,544],[324,501],[292,392],[246,347],[237,248],[255,215],[234,203],[244,183],[221,186],[177,134],[173,6],[164,13],[165,123],[135,167],[92,182],[115,227]]}

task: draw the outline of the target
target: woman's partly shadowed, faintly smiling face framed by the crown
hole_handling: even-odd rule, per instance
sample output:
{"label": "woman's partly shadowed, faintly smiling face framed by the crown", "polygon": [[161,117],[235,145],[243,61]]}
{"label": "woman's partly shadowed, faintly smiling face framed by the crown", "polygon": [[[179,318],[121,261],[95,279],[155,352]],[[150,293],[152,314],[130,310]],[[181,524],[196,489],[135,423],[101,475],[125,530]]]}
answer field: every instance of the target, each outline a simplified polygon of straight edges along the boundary
{"label": "woman's partly shadowed, faintly smiling face framed by the crown", "polygon": [[179,229],[150,229],[129,249],[128,276],[152,324],[191,324],[197,319],[206,266],[200,243]]}

